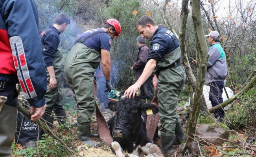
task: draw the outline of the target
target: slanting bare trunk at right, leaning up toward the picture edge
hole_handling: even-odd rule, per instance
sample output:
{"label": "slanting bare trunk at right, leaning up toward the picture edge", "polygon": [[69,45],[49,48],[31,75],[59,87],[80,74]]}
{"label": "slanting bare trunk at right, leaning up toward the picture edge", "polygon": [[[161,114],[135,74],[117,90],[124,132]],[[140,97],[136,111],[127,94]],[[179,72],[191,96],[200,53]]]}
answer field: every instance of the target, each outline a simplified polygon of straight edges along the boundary
{"label": "slanting bare trunk at right, leaning up toward the picture edge", "polygon": [[252,88],[254,85],[256,84],[256,76],[254,76],[252,78],[252,80],[247,84],[247,86],[245,86],[245,88],[243,88],[241,91],[239,91],[238,93],[236,93],[236,95],[233,95],[233,97],[229,98],[228,100],[222,102],[221,104],[214,106],[213,108],[210,108],[209,111],[210,113],[217,111],[221,108],[224,108],[225,106],[227,106],[228,104],[230,104],[231,102],[233,102],[234,100],[238,99],[239,95],[242,95],[243,92],[247,91],[248,89]]}

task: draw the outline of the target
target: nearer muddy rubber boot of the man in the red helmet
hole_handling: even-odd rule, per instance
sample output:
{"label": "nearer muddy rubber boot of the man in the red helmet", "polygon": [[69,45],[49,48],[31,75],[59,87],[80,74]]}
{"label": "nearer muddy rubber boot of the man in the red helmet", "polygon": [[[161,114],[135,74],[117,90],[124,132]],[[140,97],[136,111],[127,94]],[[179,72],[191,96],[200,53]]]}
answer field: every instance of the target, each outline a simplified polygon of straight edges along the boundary
{"label": "nearer muddy rubber boot of the man in the red helmet", "polygon": [[88,144],[89,146],[99,146],[100,142],[94,142],[92,140],[90,140],[90,126],[89,124],[80,124],[77,123],[77,131],[79,131],[78,133],[78,140],[83,142],[84,144]]}

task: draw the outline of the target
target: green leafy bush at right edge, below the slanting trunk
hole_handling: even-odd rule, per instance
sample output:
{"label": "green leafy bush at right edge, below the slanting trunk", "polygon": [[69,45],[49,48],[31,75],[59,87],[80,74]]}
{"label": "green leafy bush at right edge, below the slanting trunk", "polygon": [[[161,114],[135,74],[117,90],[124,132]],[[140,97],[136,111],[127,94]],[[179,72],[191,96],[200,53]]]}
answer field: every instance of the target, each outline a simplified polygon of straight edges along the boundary
{"label": "green leafy bush at right edge, below the slanting trunk", "polygon": [[254,117],[256,116],[256,89],[252,89],[244,93],[233,104],[230,111],[227,112],[228,118],[231,120],[231,129],[252,126]]}

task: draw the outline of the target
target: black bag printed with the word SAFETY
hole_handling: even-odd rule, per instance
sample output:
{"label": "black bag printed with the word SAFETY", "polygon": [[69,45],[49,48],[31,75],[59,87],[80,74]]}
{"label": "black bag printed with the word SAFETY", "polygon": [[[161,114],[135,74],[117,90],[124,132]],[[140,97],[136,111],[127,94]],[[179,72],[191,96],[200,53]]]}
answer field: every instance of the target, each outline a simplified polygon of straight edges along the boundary
{"label": "black bag printed with the word SAFETY", "polygon": [[[44,119],[45,116],[42,118]],[[15,142],[25,146],[29,141],[40,139],[44,131],[37,124],[24,116],[20,111],[17,115],[17,129],[15,133]]]}

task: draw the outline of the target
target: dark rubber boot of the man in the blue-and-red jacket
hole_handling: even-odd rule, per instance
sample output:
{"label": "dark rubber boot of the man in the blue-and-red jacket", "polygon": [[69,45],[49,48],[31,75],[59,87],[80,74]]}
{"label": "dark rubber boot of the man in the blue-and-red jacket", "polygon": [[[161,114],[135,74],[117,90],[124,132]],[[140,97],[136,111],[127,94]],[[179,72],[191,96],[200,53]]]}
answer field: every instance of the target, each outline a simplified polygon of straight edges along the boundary
{"label": "dark rubber boot of the man in the blue-and-red jacket", "polygon": [[17,108],[4,105],[0,112],[0,157],[11,157],[16,130]]}

